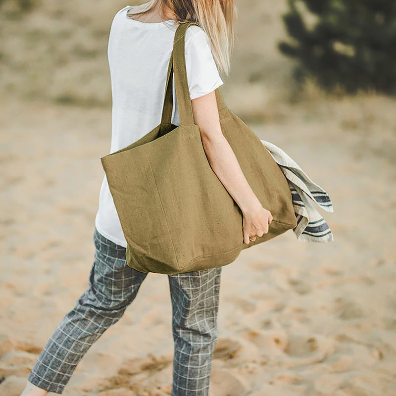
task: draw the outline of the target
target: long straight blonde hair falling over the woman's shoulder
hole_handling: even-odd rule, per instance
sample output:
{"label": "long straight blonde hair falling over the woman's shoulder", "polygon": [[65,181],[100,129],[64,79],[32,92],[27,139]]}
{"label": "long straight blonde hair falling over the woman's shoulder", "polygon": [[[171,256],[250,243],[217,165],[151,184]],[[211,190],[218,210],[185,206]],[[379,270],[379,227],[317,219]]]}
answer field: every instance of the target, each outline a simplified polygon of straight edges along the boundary
{"label": "long straight blonde hair falling over the woman's shoulder", "polygon": [[233,25],[238,16],[235,0],[148,0],[131,7],[128,14],[144,15],[158,8],[169,9],[179,23],[198,23],[209,37],[217,68],[229,75],[235,40]]}

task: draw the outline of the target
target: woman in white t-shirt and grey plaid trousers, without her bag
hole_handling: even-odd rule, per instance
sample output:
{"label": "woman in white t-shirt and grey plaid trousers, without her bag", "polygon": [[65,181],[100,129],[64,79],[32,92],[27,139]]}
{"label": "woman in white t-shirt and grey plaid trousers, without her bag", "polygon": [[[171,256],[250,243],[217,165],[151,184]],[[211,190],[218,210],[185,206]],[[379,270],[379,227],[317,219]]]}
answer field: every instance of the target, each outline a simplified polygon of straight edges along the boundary
{"label": "woman in white t-shirt and grey plaid trousers, without her bag", "polygon": [[[268,232],[271,213],[254,195],[221,132],[214,90],[228,74],[235,0],[149,0],[119,10],[111,24],[108,61],[112,88],[110,152],[140,139],[160,122],[167,65],[179,22],[194,121],[208,161],[243,213],[244,242]],[[217,63],[217,66],[216,66]],[[174,80],[173,80],[174,82]],[[180,125],[176,95],[173,124]],[[116,323],[147,276],[126,265],[126,241],[103,177],[95,218],[95,260],[89,287],[58,324],[41,352],[23,396],[61,394],[89,347]],[[217,342],[221,267],[168,275],[173,309],[173,396],[208,395]]]}

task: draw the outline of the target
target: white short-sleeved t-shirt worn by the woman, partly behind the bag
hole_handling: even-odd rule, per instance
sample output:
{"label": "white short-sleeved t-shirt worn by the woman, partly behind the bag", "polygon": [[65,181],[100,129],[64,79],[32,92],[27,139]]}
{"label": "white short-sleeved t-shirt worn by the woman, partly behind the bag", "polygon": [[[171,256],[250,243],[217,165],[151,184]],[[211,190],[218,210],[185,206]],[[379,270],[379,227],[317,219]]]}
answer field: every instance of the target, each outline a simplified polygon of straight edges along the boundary
{"label": "white short-sleeved t-shirt worn by the woman, partly behind the bag", "polygon": [[[173,20],[146,23],[127,16],[126,6],[112,21],[108,63],[112,94],[110,153],[124,148],[154,129],[161,121],[168,63],[177,24]],[[206,32],[197,25],[185,36],[190,98],[214,91],[223,84]],[[180,125],[173,77],[172,123]],[[99,233],[117,245],[127,243],[104,174],[95,217]]]}

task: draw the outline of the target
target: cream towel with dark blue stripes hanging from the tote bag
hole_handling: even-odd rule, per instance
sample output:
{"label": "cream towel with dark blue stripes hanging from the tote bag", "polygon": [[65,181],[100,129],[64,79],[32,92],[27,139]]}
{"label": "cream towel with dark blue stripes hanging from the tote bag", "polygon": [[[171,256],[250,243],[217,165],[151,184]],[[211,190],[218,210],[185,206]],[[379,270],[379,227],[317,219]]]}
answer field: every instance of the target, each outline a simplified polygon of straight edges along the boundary
{"label": "cream towel with dark blue stripes hanging from the tote bag", "polygon": [[261,140],[288,180],[292,192],[297,226],[293,232],[298,241],[331,242],[333,233],[325,219],[313,207],[310,198],[328,212],[334,212],[333,203],[320,186],[314,183],[285,151],[272,143]]}

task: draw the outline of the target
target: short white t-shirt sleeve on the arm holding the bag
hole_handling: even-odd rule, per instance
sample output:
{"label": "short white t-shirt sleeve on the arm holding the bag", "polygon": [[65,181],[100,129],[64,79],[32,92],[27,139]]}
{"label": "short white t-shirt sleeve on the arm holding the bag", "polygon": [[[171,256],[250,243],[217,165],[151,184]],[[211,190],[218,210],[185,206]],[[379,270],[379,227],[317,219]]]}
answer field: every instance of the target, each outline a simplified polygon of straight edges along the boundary
{"label": "short white t-shirt sleeve on the arm holding the bag", "polygon": [[206,95],[223,85],[209,47],[209,38],[199,26],[186,31],[185,57],[190,99]]}

